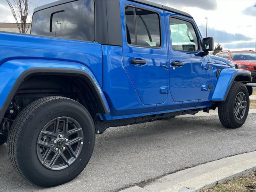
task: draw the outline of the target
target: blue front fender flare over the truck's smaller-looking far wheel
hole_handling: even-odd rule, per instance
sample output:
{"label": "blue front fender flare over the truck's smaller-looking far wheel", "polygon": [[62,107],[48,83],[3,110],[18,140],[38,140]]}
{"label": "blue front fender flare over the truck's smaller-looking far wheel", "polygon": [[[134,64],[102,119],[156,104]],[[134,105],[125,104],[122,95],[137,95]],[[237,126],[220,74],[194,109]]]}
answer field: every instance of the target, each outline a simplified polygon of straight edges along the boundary
{"label": "blue front fender flare over the truck's smaller-looking far wheel", "polygon": [[228,92],[236,79],[243,79],[243,82],[250,82],[252,79],[251,73],[248,70],[242,69],[222,69],[212,95],[212,101],[225,101],[228,96]]}

